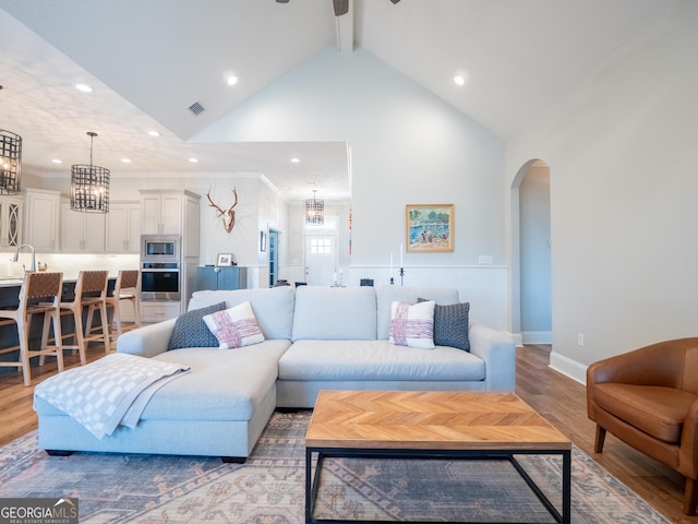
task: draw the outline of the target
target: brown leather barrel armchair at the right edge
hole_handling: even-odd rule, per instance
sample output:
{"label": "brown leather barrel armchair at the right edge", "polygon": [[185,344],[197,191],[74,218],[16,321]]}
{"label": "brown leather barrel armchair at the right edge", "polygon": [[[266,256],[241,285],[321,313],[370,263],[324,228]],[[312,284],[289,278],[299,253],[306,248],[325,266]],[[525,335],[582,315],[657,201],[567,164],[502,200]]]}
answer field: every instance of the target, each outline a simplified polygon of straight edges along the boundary
{"label": "brown leather barrel armchair at the right edge", "polygon": [[592,364],[587,413],[597,422],[594,451],[606,430],[686,477],[684,513],[698,490],[698,337],[660,342]]}

